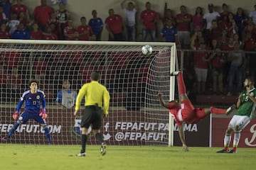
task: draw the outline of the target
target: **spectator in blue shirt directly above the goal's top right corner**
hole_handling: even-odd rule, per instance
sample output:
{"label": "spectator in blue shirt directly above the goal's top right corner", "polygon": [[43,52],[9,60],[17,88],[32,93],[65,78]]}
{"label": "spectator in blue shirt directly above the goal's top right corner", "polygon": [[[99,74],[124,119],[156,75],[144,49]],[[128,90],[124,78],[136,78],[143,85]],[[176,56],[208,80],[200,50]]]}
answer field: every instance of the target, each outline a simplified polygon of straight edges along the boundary
{"label": "spectator in blue shirt directly above the goal's top right corner", "polygon": [[166,26],[161,30],[161,38],[166,42],[176,42],[178,40],[177,29],[171,20],[166,22]]}

